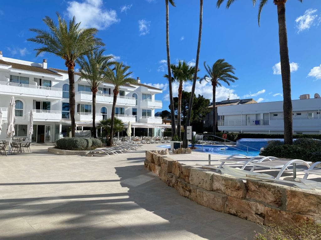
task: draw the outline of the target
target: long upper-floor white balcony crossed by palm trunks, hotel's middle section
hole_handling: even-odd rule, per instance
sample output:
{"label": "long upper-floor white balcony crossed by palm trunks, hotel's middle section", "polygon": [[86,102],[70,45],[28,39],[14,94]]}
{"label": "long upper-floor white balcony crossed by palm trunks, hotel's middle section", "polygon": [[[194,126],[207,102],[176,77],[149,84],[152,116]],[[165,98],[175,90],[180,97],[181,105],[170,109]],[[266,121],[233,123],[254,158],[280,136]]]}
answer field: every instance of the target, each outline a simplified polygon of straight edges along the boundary
{"label": "long upper-floor white balcony crossed by palm trunks, hotel's middle section", "polygon": [[[111,94],[96,94],[96,102],[97,103],[109,103],[112,104],[114,100],[114,95]],[[75,94],[76,102],[91,102],[92,101],[92,92],[79,91]],[[117,105],[125,105],[134,107],[136,105],[136,99],[133,97],[126,96],[117,96]]]}

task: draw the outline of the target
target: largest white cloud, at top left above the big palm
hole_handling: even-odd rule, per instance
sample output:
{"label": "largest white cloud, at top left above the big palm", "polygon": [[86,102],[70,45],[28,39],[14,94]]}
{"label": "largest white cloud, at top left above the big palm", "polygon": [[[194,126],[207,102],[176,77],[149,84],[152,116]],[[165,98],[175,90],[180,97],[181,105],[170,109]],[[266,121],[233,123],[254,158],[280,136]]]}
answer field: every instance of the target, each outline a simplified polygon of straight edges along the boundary
{"label": "largest white cloud, at top left above the big palm", "polygon": [[81,21],[83,28],[106,29],[110,25],[120,21],[115,10],[103,9],[102,0],[84,0],[82,3],[71,1],[67,3],[69,18],[76,17]]}

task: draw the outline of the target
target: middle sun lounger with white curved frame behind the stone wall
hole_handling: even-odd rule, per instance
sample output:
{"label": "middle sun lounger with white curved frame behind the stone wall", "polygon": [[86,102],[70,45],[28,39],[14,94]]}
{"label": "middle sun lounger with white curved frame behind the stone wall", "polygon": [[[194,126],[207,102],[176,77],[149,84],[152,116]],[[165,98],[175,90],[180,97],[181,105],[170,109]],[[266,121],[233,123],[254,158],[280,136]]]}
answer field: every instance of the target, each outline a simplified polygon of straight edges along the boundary
{"label": "middle sun lounger with white curved frame behind the stone wall", "polygon": [[279,169],[279,174],[276,176],[275,179],[280,179],[282,173],[285,170],[288,170],[289,166],[293,165],[293,176],[296,178],[296,165],[306,165],[308,168],[310,167],[311,162],[306,162],[301,159],[287,159],[287,160],[277,160],[277,161],[271,161],[271,162],[260,162],[260,163],[252,163],[253,167],[250,170],[250,172],[253,172],[256,167],[265,167],[270,169]]}

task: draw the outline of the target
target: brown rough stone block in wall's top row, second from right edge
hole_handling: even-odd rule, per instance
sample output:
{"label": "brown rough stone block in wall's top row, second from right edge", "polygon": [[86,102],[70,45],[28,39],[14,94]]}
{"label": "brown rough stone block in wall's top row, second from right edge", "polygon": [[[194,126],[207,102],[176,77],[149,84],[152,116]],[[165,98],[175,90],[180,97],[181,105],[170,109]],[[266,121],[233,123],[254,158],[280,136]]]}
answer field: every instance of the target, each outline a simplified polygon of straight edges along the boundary
{"label": "brown rough stone block in wall's top row, second from right edge", "polygon": [[262,202],[266,206],[278,208],[282,207],[284,202],[285,207],[285,194],[283,201],[282,187],[279,184],[248,179],[246,186],[246,199]]}

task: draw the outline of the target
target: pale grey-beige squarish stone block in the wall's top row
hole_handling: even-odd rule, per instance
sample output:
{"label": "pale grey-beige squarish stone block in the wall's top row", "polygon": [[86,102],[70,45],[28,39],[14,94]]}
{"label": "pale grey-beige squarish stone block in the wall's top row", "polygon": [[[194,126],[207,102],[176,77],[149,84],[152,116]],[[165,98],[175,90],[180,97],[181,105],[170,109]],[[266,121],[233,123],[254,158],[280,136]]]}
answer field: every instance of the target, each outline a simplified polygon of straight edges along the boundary
{"label": "pale grey-beige squarish stone block in the wall's top row", "polygon": [[201,170],[199,168],[191,168],[189,182],[206,190],[213,189],[213,172]]}

